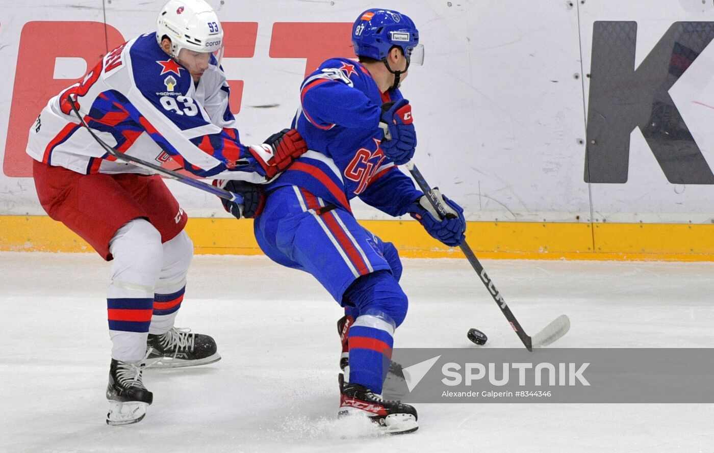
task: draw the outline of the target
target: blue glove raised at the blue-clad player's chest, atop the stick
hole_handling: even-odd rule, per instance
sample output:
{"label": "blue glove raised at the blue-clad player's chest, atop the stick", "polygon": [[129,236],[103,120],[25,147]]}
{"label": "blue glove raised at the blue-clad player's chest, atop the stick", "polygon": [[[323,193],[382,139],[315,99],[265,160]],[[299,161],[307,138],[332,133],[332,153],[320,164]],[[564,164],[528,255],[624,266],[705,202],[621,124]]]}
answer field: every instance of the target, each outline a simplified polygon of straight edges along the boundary
{"label": "blue glove raised at the blue-clad player's chest, atop the stick", "polygon": [[401,99],[396,103],[384,103],[380,121],[384,129],[381,148],[385,156],[397,165],[410,161],[416,151],[416,131],[409,101]]}

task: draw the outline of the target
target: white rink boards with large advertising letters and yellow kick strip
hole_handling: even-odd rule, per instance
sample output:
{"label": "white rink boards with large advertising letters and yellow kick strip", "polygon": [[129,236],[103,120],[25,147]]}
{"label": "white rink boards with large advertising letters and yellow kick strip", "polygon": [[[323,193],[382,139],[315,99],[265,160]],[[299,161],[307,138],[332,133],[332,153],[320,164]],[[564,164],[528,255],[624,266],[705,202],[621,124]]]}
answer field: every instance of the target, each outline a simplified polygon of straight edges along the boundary
{"label": "white rink boards with large advertising letters and yellow kick strip", "polygon": [[[42,220],[16,220],[44,215],[24,152],[27,131],[51,96],[114,46],[153,29],[161,3],[18,0],[4,11],[0,225],[22,228],[0,235],[2,250],[82,247],[69,232],[46,237],[34,230]],[[303,77],[325,58],[352,56],[350,24],[376,6],[209,3],[226,29],[223,67],[244,143],[288,126]],[[393,0],[388,6],[419,24],[426,47],[425,66],[412,68],[403,85],[418,128],[416,163],[463,206],[480,255],[710,259],[714,4]],[[213,223],[228,214],[212,195],[169,186],[193,219],[199,253],[257,253],[248,224],[221,230],[222,222]],[[459,254],[411,220],[397,228],[401,220],[359,200],[353,212],[408,256]],[[247,238],[235,240],[233,228]]]}

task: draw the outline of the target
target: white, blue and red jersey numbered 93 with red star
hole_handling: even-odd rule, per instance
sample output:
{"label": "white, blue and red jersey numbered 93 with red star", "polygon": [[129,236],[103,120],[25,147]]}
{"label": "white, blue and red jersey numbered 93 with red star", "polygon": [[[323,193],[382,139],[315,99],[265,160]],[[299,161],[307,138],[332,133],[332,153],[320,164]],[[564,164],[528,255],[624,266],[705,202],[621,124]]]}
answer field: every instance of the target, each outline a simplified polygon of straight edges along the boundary
{"label": "white, blue and red jersey numbered 93 with red star", "polygon": [[81,83],[52,98],[30,131],[27,153],[78,173],[149,173],[116,161],[81,128],[69,103],[117,151],[201,178],[266,181],[272,151],[244,146],[228,108],[228,83],[215,59],[198,83],[154,33],[109,52]]}

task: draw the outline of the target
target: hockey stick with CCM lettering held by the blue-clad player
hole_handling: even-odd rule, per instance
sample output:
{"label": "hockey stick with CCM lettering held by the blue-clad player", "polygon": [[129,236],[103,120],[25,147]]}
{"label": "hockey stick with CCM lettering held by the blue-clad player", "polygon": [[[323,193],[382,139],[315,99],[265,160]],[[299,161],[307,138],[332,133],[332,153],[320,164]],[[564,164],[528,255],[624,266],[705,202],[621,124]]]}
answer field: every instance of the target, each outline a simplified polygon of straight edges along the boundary
{"label": "hockey stick with CCM lettering held by the blue-clad player", "polygon": [[[441,215],[441,218],[455,217],[453,214],[446,212],[446,209],[441,204],[441,200],[439,200],[439,198],[434,194],[433,190],[431,190],[431,187],[429,187],[423,175],[421,175],[421,171],[416,168],[416,165],[414,165],[413,161],[408,161],[406,164],[404,164],[404,166],[406,166],[406,168],[409,170],[409,173],[411,173],[414,180],[416,180],[416,183],[419,185],[419,188],[421,188],[422,192],[426,194],[426,197],[431,202],[431,205],[434,207],[434,209],[436,209],[436,212]],[[511,312],[511,308],[506,305],[506,300],[503,300],[501,292],[499,292],[496,289],[496,286],[493,285],[493,280],[491,280],[491,278],[486,275],[486,270],[483,269],[483,266],[478,261],[478,258],[476,258],[476,255],[473,254],[473,251],[471,250],[471,247],[468,246],[468,243],[466,243],[466,240],[464,240],[459,247],[461,247],[461,251],[463,251],[463,254],[466,255],[466,259],[468,260],[468,262],[471,263],[473,270],[476,270],[476,273],[481,277],[481,282],[483,282],[483,285],[486,286],[486,289],[488,290],[488,293],[491,294],[491,297],[493,297],[494,302],[496,302],[496,304],[498,304],[498,307],[501,308],[503,316],[506,317],[508,323],[511,324],[511,327],[513,327],[513,330],[516,331],[516,335],[518,335],[518,338],[521,339],[523,345],[526,346],[526,349],[528,349],[529,351],[533,351],[533,347],[542,347],[545,345],[550,345],[550,343],[554,342],[555,340],[558,340],[558,338],[562,337],[568,332],[568,330],[570,329],[570,319],[568,319],[568,317],[565,315],[560,315],[555,318],[553,322],[550,322],[550,324],[546,325],[543,330],[540,330],[540,332],[533,335],[533,337],[526,334],[526,332],[523,330],[523,327],[521,327],[521,324],[516,319],[516,316],[513,315],[513,312]]]}

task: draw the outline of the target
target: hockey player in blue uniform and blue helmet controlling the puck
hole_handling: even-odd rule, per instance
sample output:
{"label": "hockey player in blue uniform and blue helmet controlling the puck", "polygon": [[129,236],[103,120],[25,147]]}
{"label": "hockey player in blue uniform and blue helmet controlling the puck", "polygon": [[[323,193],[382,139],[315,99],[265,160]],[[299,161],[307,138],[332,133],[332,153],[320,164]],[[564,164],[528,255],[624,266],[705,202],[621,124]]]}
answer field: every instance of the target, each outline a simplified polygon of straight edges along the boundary
{"label": "hockey player in blue uniform and blue helmet controlling the puck", "polygon": [[352,39],[359,62],[330,59],[303,82],[293,127],[309,151],[266,185],[254,228],[268,257],[311,273],[345,307],[340,324],[348,368],[339,414],[364,414],[398,434],[418,427],[416,409],[380,396],[383,360],[391,356],[394,330],[407,312],[398,283],[402,266],[391,243],[357,223],[349,200],[359,197],[393,216],[411,213],[451,246],[463,242],[466,222],[461,207],[446,197],[443,203],[456,217],[440,220],[396,167],[416,147],[411,106],[399,91],[410,63],[423,61],[413,21],[397,11],[370,9],[355,22]]}

